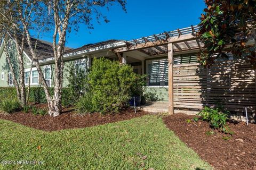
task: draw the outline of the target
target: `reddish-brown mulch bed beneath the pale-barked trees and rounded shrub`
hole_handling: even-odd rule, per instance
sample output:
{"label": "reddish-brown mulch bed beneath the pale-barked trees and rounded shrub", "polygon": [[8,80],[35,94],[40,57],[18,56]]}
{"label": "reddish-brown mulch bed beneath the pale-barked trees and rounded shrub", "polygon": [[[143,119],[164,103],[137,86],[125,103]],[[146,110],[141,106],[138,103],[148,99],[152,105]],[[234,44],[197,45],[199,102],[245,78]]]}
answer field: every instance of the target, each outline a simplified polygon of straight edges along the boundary
{"label": "reddish-brown mulch bed beneath the pale-barked trees and rounded shrub", "polygon": [[[42,108],[44,106],[37,105],[37,107]],[[39,130],[58,131],[62,129],[85,128],[106,123],[130,120],[131,118],[140,117],[146,114],[148,113],[144,111],[137,111],[135,114],[133,109],[127,109],[126,111],[122,111],[118,114],[101,115],[99,113],[95,113],[92,115],[81,115],[76,114],[69,108],[66,108],[61,115],[56,117],[17,112],[12,114],[0,114],[0,119],[13,121]]]}

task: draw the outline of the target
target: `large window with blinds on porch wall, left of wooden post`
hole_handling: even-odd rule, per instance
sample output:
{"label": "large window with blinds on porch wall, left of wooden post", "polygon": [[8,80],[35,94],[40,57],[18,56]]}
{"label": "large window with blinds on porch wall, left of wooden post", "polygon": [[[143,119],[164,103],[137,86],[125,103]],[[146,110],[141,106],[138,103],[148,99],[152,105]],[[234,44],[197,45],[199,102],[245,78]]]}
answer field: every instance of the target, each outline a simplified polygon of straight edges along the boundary
{"label": "large window with blinds on porch wall, left of wooden post", "polygon": [[168,59],[147,61],[148,85],[168,86]]}

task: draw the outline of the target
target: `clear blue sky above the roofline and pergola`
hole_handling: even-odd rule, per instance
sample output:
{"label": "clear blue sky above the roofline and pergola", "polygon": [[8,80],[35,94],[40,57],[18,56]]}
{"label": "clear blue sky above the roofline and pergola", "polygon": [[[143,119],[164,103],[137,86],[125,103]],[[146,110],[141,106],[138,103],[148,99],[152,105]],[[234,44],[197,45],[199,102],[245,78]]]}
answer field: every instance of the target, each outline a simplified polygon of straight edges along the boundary
{"label": "clear blue sky above the roofline and pergola", "polygon": [[[93,30],[81,25],[78,32],[68,35],[66,46],[77,48],[108,39],[131,40],[190,27],[199,23],[204,7],[203,0],[127,0],[127,13],[119,5],[102,10],[110,22],[94,21]],[[52,41],[52,35],[42,39]]]}

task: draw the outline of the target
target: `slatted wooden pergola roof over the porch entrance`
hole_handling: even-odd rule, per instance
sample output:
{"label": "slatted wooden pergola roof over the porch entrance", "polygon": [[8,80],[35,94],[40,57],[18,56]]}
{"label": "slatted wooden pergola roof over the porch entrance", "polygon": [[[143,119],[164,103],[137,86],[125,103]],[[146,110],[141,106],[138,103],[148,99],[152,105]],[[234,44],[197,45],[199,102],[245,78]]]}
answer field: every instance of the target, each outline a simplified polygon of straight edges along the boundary
{"label": "slatted wooden pergola roof over the porch entrance", "polygon": [[126,41],[126,47],[117,48],[116,53],[139,50],[149,56],[167,54],[167,44],[173,43],[175,52],[186,52],[194,49],[201,49],[204,44],[196,38],[195,33],[198,31],[198,25],[174,31],[163,32],[158,35],[142,37]]}

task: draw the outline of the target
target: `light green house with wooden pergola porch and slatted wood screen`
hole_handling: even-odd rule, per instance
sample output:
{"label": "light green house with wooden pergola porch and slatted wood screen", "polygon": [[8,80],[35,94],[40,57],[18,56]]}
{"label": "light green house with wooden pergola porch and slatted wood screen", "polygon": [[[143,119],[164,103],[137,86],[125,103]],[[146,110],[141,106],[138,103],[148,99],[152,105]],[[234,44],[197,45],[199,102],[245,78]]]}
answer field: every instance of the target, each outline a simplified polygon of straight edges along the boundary
{"label": "light green house with wooden pergola porch and slatted wood screen", "polygon": [[[108,40],[76,49],[66,48],[63,58],[65,64],[75,61],[76,67],[90,66],[94,57],[102,56],[130,64],[135,73],[148,75],[147,91],[154,92],[163,101],[168,101],[170,113],[195,114],[202,107],[220,101],[233,114],[241,116],[244,114],[244,107],[247,107],[251,117],[254,117],[255,70],[243,58],[237,60],[230,54],[227,59],[221,59],[211,69],[204,69],[197,61],[197,54],[204,45],[195,36],[196,31],[198,26],[191,26],[129,41]],[[249,38],[246,45],[254,46],[254,40]],[[37,55],[40,57],[39,63],[44,69],[47,83],[51,87],[54,64],[51,44],[45,41],[41,43]],[[27,48],[25,56],[25,79],[28,82],[31,58]],[[8,77],[9,73],[3,70],[4,62],[5,54],[2,52],[1,87],[12,84],[11,76]],[[33,86],[39,85],[34,65],[30,82]],[[67,83],[67,79],[64,78],[63,86],[67,86]]]}

